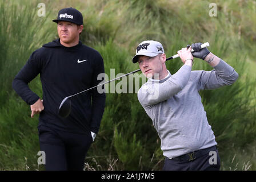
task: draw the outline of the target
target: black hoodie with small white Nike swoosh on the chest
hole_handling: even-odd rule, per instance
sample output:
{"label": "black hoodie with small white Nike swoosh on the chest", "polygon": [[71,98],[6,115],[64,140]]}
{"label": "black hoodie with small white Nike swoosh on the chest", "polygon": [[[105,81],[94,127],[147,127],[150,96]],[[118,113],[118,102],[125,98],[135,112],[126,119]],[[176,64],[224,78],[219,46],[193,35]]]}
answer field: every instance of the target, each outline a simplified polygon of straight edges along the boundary
{"label": "black hoodie with small white Nike swoosh on the chest", "polygon": [[25,66],[13,80],[13,89],[29,105],[39,97],[28,86],[40,73],[43,89],[44,110],[39,115],[39,126],[85,133],[98,133],[106,96],[97,88],[71,99],[71,113],[61,118],[58,108],[63,98],[98,85],[100,73],[104,73],[102,56],[93,48],[83,45],[65,47],[59,39],[43,45],[34,51]]}

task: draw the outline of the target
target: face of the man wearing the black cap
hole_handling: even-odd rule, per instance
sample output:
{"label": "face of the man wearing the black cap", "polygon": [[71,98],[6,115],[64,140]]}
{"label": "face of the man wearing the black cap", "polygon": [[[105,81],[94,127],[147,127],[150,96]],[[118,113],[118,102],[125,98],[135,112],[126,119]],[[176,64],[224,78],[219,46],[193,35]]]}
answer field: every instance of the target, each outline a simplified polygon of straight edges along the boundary
{"label": "face of the man wearing the black cap", "polygon": [[74,40],[79,40],[79,34],[82,30],[82,25],[78,26],[71,22],[58,22],[58,35],[63,43],[69,44],[74,42]]}

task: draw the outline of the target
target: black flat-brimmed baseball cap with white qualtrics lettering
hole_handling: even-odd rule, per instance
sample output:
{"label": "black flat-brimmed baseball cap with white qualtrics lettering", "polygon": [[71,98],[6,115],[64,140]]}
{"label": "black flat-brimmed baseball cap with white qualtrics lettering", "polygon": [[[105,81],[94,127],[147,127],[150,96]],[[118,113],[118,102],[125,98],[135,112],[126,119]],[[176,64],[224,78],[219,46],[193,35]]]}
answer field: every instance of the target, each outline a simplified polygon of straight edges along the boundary
{"label": "black flat-brimmed baseball cap with white qualtrics lettering", "polygon": [[83,15],[77,9],[73,7],[68,7],[62,10],[59,10],[57,19],[54,19],[53,22],[58,23],[59,21],[72,22],[78,25],[83,24]]}

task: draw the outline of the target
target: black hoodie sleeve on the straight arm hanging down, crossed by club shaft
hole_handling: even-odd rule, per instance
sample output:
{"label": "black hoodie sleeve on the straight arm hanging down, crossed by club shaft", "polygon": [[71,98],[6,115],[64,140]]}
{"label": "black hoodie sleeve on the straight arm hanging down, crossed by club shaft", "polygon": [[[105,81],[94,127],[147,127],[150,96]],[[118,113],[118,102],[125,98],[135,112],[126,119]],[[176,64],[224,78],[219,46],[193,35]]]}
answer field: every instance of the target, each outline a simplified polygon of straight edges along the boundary
{"label": "black hoodie sleeve on the straight arm hanging down, crossed by club shaft", "polygon": [[[98,80],[98,75],[105,73],[104,63],[101,56],[97,59],[97,65],[95,64],[95,69],[93,73],[92,85],[98,85],[101,80]],[[98,89],[95,88],[91,92],[92,95],[92,115],[91,115],[91,131],[98,133],[99,126],[101,124],[101,119],[105,109],[106,95],[105,92],[99,93]]]}

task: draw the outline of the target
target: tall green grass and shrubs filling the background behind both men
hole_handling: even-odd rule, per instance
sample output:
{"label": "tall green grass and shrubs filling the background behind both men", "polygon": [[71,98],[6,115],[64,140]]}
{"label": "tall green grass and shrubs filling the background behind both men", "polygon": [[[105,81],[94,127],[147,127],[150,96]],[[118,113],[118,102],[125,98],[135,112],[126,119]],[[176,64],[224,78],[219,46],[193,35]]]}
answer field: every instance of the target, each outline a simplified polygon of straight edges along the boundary
{"label": "tall green grass and shrubs filling the background behind both men", "polygon": [[[143,40],[158,40],[167,56],[187,44],[209,42],[210,51],[239,74],[232,86],[200,93],[219,144],[222,169],[256,169],[255,151],[249,147],[255,148],[255,81],[247,72],[247,60],[255,57],[254,1],[217,1],[217,17],[208,15],[210,1],[44,2],[46,17],[40,18],[39,1],[0,2],[0,169],[43,169],[37,165],[38,119],[30,118],[30,107],[11,89],[11,81],[35,49],[57,38],[51,20],[63,7],[75,7],[83,13],[85,30],[81,40],[101,53],[109,77],[110,69],[115,69],[115,75],[138,69],[131,57]],[[166,65],[175,73],[182,63],[175,59]],[[193,69],[212,68],[195,59]],[[129,81],[135,84],[134,80]],[[108,86],[110,89],[111,84]],[[38,77],[30,88],[42,96]],[[163,164],[160,143],[137,94],[108,93],[101,127],[87,154],[85,169],[159,170]]]}

